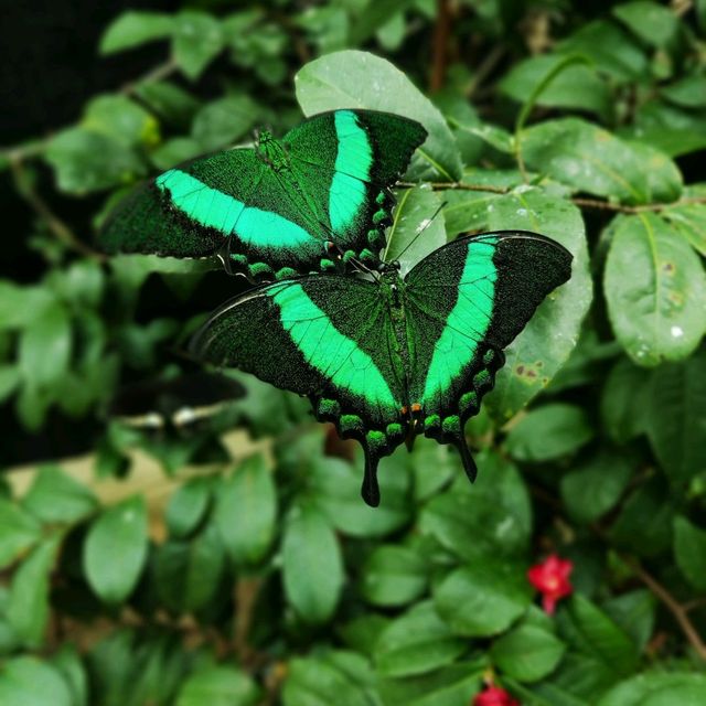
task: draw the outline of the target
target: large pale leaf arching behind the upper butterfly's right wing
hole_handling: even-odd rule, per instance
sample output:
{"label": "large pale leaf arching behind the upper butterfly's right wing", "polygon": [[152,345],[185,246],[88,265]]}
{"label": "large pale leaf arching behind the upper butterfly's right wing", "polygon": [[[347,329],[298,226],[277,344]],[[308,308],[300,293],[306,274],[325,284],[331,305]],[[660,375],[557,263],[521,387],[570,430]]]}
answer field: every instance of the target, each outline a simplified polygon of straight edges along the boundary
{"label": "large pale leaf arching behind the upper butterfly's right wing", "polygon": [[[372,81],[371,81],[372,77]],[[461,161],[451,130],[437,108],[393,64],[359,51],[328,54],[295,76],[297,100],[310,116],[338,108],[366,108],[404,115],[429,132],[417,149],[417,180],[458,181]]]}

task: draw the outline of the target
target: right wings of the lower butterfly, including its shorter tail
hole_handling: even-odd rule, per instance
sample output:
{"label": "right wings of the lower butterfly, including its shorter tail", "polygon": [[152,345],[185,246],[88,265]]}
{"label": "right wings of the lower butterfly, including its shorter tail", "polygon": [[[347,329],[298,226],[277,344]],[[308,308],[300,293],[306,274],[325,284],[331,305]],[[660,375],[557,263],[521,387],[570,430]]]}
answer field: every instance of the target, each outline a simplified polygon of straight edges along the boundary
{"label": "right wings of the lower butterfly, including its shorter tail", "polygon": [[535,309],[571,275],[571,255],[535,233],[463,237],[421,260],[406,277],[407,320],[415,341],[409,402],[421,406],[419,431],[456,445],[467,473],[475,464],[464,421],[504,364],[502,350]]}

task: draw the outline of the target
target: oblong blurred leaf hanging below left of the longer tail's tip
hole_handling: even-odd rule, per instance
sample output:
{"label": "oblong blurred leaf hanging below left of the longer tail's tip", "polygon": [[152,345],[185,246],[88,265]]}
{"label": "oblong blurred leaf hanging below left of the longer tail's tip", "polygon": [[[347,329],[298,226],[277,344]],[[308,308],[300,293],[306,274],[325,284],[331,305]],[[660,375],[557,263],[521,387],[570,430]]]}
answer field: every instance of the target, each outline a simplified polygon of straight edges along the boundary
{"label": "oblong blurred leaf hanging below left of the longer tail's tip", "polygon": [[324,514],[297,505],[285,525],[282,579],[289,602],[309,623],[334,613],[343,588],[341,548]]}

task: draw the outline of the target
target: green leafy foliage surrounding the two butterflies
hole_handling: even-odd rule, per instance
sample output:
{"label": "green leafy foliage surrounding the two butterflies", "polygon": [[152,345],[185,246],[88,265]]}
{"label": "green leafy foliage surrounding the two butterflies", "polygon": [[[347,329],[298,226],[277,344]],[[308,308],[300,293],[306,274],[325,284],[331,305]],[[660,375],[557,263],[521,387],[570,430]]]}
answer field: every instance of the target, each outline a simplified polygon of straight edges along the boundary
{"label": "green leafy foliage surrounding the two butterflies", "polygon": [[[489,680],[527,705],[706,703],[704,28],[700,1],[642,0],[115,18],[101,56],[156,43],[161,62],[0,162],[35,214],[12,234],[32,276],[0,280],[3,463],[46,461],[0,498],[0,703],[461,706]],[[257,381],[190,436],[105,414],[120,385],[178,375],[243,287],[106,260],[110,205],[339,106],[431,135],[392,254],[443,204],[407,257],[514,227],[576,256],[468,425],[477,484],[419,439],[383,462],[377,510],[355,450]],[[62,468],[88,451],[90,474]],[[552,552],[575,565],[554,617],[525,578]]]}

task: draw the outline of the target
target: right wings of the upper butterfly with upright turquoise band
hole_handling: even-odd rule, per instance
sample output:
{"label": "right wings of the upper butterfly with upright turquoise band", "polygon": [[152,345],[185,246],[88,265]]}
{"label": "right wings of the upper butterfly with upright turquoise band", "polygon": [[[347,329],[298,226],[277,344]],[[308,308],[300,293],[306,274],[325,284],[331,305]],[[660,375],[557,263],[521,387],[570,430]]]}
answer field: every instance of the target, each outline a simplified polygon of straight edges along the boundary
{"label": "right wings of the upper butterfly with upright turquoise band", "polygon": [[284,138],[292,171],[339,249],[374,260],[385,245],[392,196],[425,128],[376,110],[334,110],[298,125]]}

